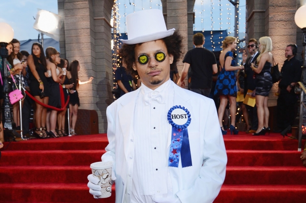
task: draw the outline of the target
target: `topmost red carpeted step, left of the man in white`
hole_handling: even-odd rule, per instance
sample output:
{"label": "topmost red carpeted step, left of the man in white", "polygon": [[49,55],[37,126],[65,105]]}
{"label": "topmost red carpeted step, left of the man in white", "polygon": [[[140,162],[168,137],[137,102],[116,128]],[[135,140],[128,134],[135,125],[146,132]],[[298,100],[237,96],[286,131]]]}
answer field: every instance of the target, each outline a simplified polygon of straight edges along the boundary
{"label": "topmost red carpeted step, left of the man in white", "polygon": [[107,135],[97,134],[4,143],[4,148],[7,146],[6,150],[99,150],[105,149],[107,145]]}

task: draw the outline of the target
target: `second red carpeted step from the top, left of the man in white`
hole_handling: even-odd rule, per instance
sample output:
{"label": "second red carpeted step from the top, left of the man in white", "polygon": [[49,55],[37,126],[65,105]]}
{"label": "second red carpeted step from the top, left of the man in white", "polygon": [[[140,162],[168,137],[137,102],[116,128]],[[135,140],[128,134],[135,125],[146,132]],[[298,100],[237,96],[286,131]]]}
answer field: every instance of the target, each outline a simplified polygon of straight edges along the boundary
{"label": "second red carpeted step from the top, left of the man in white", "polygon": [[0,166],[90,166],[93,162],[101,161],[103,153],[105,150],[2,151]]}

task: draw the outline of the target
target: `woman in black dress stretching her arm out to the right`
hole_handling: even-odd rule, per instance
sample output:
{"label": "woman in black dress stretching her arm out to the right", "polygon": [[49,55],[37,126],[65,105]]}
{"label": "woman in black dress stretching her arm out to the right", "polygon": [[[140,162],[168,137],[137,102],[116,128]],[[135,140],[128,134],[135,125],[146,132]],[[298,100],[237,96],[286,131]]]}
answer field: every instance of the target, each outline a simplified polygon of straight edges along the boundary
{"label": "woman in black dress stretching her arm out to the right", "polygon": [[86,83],[89,83],[93,80],[93,77],[90,77],[88,81],[81,82],[78,79],[78,74],[77,72],[79,71],[80,66],[79,62],[77,60],[74,60],[71,62],[68,68],[67,72],[67,77],[70,80],[70,84],[73,85],[71,88],[69,95],[70,95],[70,100],[69,100],[69,116],[70,116],[70,132],[72,135],[76,135],[75,133],[75,126],[76,126],[76,119],[77,119],[77,110],[79,107],[79,98],[78,98],[78,93],[77,93],[77,88],[78,85],[83,85]]}

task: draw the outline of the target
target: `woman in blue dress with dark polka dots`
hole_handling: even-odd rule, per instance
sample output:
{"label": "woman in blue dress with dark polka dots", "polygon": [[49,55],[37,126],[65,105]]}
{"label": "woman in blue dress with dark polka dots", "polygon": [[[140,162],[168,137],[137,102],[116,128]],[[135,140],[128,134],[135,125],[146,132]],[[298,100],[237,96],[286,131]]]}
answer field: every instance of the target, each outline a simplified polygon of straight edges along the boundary
{"label": "woman in blue dress with dark polka dots", "polygon": [[[238,130],[235,128],[235,118],[236,118],[236,96],[237,96],[237,87],[236,87],[236,75],[235,70],[243,69],[244,66],[235,66],[235,60],[233,58],[232,50],[237,46],[237,41],[235,37],[228,36],[224,39],[222,43],[222,53],[220,55],[220,64],[221,70],[217,79],[216,88],[214,94],[220,96],[220,106],[218,109],[219,123],[223,135],[227,134],[227,131],[224,130],[222,120],[225,108],[230,104],[230,118],[231,124],[229,126],[230,134],[237,135]],[[224,65],[223,65],[224,64]]]}

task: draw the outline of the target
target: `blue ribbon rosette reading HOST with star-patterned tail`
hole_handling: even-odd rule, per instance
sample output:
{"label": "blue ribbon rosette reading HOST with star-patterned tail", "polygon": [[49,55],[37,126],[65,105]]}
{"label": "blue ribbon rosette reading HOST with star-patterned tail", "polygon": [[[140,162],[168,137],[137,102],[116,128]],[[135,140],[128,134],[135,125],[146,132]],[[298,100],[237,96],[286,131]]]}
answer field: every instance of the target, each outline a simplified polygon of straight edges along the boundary
{"label": "blue ribbon rosette reading HOST with star-patterned tail", "polygon": [[192,166],[187,129],[191,122],[191,115],[188,109],[180,105],[173,106],[170,108],[167,118],[172,125],[168,166],[178,168],[180,158],[183,168]]}

